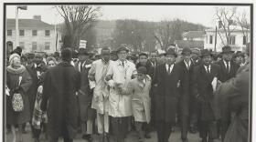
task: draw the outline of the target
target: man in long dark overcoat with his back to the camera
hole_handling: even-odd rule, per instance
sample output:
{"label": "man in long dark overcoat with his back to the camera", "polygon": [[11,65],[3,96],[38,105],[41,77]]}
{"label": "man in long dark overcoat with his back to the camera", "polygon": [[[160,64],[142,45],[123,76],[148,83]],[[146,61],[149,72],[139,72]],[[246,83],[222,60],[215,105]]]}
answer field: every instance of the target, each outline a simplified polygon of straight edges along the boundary
{"label": "man in long dark overcoat with his back to the camera", "polygon": [[44,84],[41,109],[48,114],[48,141],[72,142],[78,127],[78,100],[76,92],[80,88],[80,74],[71,66],[71,49],[61,51],[62,61],[48,69]]}

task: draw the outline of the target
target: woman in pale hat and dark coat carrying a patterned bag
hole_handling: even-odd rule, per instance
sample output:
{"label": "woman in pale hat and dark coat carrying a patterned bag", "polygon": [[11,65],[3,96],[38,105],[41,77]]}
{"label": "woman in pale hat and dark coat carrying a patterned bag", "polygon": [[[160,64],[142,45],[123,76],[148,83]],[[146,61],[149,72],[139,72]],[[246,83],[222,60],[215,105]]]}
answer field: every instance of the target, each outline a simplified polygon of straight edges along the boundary
{"label": "woman in pale hat and dark coat carrying a patterned bag", "polygon": [[[10,90],[9,96],[6,96],[6,124],[11,125],[13,142],[16,142],[16,128],[18,125],[18,141],[23,141],[22,124],[30,120],[30,108],[28,103],[27,90],[32,84],[25,66],[20,64],[20,56],[13,54],[9,57],[10,66],[7,66],[6,85]],[[20,93],[23,99],[24,109],[16,112],[12,106],[12,98],[15,93]]]}

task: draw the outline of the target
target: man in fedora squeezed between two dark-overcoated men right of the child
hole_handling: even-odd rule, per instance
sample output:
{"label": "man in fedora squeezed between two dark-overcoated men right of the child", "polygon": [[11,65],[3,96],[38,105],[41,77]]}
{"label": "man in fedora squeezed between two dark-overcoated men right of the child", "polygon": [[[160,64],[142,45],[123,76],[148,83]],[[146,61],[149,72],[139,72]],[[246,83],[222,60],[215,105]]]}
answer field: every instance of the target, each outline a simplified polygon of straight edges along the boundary
{"label": "man in fedora squeezed between two dark-overcoated men right of the child", "polygon": [[[192,73],[193,73],[193,68],[197,66],[197,63],[194,63],[191,59],[192,57],[192,51],[190,48],[185,47],[182,50],[182,61],[177,63],[177,65],[182,66],[183,69],[187,72],[187,81],[188,81],[188,87],[187,87],[187,95],[180,97],[179,100],[179,107],[180,107],[180,122],[181,122],[181,139],[183,142],[187,142],[187,127],[188,127],[188,117],[191,115],[189,112],[191,111],[197,111],[194,110],[193,108],[196,108],[192,106],[191,104],[191,99],[192,98]],[[193,104],[194,105],[194,104]],[[190,109],[189,109],[190,107]],[[192,112],[193,114],[196,114],[196,112]],[[197,118],[196,118],[197,119]],[[197,123],[196,123],[197,124]],[[196,127],[196,126],[195,126]]]}

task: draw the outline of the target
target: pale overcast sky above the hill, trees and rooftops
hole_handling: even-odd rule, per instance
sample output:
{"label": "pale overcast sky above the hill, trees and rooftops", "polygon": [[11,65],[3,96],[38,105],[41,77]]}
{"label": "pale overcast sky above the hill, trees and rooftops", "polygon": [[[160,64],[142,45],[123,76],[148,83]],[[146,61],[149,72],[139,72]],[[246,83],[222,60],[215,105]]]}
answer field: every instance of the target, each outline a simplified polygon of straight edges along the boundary
{"label": "pale overcast sky above the hill, trees and rooftops", "polygon": [[[102,20],[136,19],[141,21],[161,21],[179,18],[214,27],[216,5],[101,5]],[[249,6],[238,6],[238,12],[250,13]],[[27,5],[27,10],[19,10],[19,18],[33,18],[33,15],[41,15],[42,21],[48,24],[63,22],[54,5]],[[6,17],[16,17],[16,6],[6,6]]]}

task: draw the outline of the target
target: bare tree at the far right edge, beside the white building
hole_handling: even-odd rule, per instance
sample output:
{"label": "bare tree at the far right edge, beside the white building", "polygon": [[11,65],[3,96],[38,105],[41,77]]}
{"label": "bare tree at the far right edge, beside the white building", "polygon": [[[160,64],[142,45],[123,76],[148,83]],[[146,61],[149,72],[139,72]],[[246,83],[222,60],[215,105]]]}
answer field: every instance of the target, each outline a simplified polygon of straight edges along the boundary
{"label": "bare tree at the far right edge, beside the white building", "polygon": [[236,16],[236,22],[241,27],[242,35],[245,37],[246,43],[248,43],[250,33],[250,21],[246,11],[243,11],[241,15]]}

